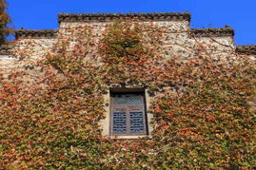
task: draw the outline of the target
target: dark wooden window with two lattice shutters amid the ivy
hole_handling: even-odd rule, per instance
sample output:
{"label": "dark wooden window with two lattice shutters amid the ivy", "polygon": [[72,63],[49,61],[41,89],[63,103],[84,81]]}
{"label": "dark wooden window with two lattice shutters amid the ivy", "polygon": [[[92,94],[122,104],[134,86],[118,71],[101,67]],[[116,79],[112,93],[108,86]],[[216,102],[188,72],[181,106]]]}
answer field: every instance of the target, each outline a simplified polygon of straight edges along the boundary
{"label": "dark wooden window with two lattice shutters amid the ivy", "polygon": [[110,135],[148,135],[145,92],[110,92]]}

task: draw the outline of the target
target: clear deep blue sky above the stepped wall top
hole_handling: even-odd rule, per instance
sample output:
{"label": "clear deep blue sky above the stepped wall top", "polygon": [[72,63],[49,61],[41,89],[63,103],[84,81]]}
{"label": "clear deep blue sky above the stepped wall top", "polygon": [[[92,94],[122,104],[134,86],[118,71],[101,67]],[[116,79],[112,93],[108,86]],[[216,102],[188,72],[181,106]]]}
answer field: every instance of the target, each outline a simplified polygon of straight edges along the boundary
{"label": "clear deep blue sky above the stepped wall top", "polygon": [[7,0],[14,28],[58,28],[59,12],[189,11],[191,28],[235,29],[237,45],[256,45],[256,0]]}

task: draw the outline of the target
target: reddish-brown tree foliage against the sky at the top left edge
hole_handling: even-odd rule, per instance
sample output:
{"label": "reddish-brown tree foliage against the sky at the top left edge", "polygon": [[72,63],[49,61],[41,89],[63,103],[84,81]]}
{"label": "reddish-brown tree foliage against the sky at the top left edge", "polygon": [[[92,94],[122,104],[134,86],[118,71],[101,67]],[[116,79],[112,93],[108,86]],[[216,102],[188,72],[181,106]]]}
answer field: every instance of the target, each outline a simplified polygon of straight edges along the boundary
{"label": "reddish-brown tree foliage against the sky at the top left edge", "polygon": [[6,37],[11,33],[11,28],[7,26],[11,20],[6,9],[6,1],[0,0],[0,46],[7,43]]}

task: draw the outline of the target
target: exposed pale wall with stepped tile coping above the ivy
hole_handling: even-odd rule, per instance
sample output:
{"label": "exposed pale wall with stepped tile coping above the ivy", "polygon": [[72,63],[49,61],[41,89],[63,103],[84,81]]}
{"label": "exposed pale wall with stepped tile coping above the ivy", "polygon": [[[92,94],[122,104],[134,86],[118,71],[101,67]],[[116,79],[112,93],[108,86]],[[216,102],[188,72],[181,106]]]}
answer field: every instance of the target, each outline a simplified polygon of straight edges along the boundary
{"label": "exposed pale wall with stepped tile coping above the ivy", "polygon": [[[95,38],[94,43],[97,44],[102,39],[108,24],[118,19],[138,20],[160,28],[163,31],[160,55],[167,59],[173,56],[186,59],[197,55],[199,51],[212,57],[239,54],[256,59],[256,46],[236,47],[232,28],[190,28],[189,13],[61,13],[58,16],[58,29],[18,29],[15,34],[14,46],[0,48],[0,69],[2,72],[10,72],[16,68],[32,65],[48,55],[51,47],[58,42],[58,38],[69,37],[78,30],[77,28],[91,28],[92,36]],[[73,39],[73,41],[75,43],[76,40]],[[92,46],[89,56],[96,53],[97,47]],[[250,105],[255,110],[256,104],[250,102]],[[104,130],[105,135],[108,134],[108,127],[106,128],[107,130]]]}

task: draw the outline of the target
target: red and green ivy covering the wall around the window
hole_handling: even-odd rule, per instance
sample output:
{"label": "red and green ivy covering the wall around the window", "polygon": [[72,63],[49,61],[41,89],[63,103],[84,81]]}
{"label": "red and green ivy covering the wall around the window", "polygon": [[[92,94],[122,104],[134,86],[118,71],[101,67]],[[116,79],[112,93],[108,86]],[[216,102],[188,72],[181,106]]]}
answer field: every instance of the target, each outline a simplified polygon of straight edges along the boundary
{"label": "red and green ivy covering the wall around the window", "polygon": [[[161,31],[150,24],[109,25],[100,43],[90,27],[74,29],[37,63],[44,74],[36,83],[24,82],[24,72],[1,76],[0,167],[255,167],[255,113],[247,104],[255,97],[255,63],[231,54],[216,60],[202,48],[186,62],[161,63]],[[89,55],[94,45],[99,53]],[[101,136],[103,96],[115,83],[148,85],[155,95],[152,139]]]}

